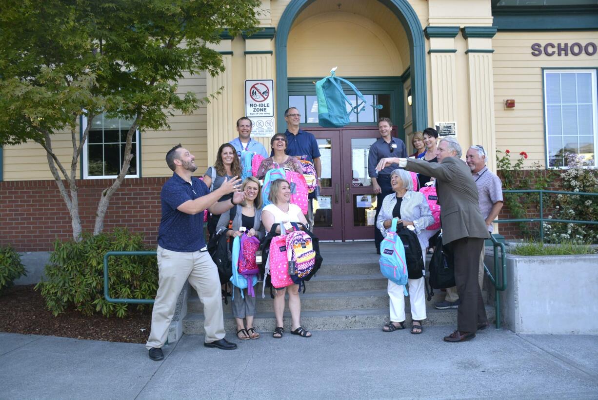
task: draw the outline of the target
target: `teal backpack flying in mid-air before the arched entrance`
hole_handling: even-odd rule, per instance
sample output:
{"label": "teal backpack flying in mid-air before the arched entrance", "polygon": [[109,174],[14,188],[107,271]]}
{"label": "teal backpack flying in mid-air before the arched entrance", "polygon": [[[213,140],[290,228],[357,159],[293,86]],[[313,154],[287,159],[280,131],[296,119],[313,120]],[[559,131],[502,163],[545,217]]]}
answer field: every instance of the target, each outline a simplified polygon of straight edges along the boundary
{"label": "teal backpack flying in mid-air before the arched entrance", "polygon": [[[325,128],[341,128],[350,122],[349,115],[352,112],[359,114],[365,109],[365,97],[357,88],[343,78],[338,78],[332,68],[330,76],[316,82],[316,94],[318,95],[318,123]],[[341,82],[347,84],[361,100],[353,106],[347,95],[344,94]],[[349,111],[347,111],[349,105]],[[381,109],[382,105],[370,104],[370,106]]]}

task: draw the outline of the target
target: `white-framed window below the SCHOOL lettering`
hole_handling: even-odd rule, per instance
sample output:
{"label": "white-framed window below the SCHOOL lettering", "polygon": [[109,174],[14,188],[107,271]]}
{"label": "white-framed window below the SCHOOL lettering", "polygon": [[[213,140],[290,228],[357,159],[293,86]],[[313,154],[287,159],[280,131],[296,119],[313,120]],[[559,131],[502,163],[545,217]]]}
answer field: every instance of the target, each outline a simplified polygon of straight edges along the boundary
{"label": "white-framed window below the SCHOOL lettering", "polygon": [[596,69],[544,70],[548,167],[565,167],[567,153],[597,165],[596,92]]}

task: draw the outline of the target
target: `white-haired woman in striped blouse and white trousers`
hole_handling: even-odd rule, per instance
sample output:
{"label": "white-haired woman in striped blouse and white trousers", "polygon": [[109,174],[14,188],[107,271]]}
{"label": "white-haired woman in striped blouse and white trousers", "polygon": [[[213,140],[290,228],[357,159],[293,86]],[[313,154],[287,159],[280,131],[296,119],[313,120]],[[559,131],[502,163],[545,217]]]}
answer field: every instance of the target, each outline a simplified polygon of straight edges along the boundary
{"label": "white-haired woman in striped blouse and white trousers", "polygon": [[[413,226],[417,234],[422,257],[426,259],[428,239],[421,233],[434,223],[434,216],[430,212],[428,202],[422,193],[413,191],[411,176],[404,169],[395,169],[390,173],[390,184],[394,193],[386,196],[382,202],[382,209],[376,219],[376,227],[386,237],[392,219],[398,217],[405,227]],[[409,301],[411,303],[411,333],[422,333],[422,320],[426,319],[425,277],[409,279]],[[405,329],[405,297],[403,286],[388,281],[388,295],[390,298],[390,322],[382,330],[385,332]]]}

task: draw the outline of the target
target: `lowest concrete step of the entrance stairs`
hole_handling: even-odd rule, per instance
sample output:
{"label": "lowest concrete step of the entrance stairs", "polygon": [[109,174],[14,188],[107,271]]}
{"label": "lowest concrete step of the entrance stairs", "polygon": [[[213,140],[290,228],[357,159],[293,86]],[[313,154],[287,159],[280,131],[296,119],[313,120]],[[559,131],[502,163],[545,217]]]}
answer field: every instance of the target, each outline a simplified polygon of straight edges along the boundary
{"label": "lowest concrete step of the entrance stairs", "polygon": [[[447,325],[450,329],[457,326],[457,310],[436,310],[434,307],[427,307],[427,319],[423,323],[424,329],[426,325]],[[495,320],[495,311],[493,307],[486,307],[486,314],[492,323]],[[407,317],[407,326],[411,324],[411,314],[405,311]],[[360,309],[360,310],[327,310],[327,311],[302,311],[301,325],[305,326],[310,331],[327,331],[331,329],[362,329],[362,328],[382,328],[382,326],[389,321],[388,307],[381,307],[377,309]],[[203,334],[203,314],[190,313],[183,320],[183,332],[185,334]],[[263,312],[257,313],[254,317],[254,326],[258,332],[273,332],[274,331],[274,313]],[[237,331],[236,322],[230,313],[224,315],[224,328],[228,335],[234,335]],[[284,319],[285,333],[291,329],[291,314],[285,312]],[[449,329],[449,331],[450,331]]]}

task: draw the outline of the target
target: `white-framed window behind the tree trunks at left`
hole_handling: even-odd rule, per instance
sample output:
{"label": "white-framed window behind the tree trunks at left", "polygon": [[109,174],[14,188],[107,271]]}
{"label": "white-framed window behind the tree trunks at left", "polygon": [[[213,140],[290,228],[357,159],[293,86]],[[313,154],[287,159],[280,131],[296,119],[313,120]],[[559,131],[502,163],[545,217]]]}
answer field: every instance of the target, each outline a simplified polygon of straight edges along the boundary
{"label": "white-framed window behind the tree trunks at left", "polygon": [[[116,178],[123,165],[127,132],[133,120],[97,115],[91,121],[87,143],[83,146],[83,178]],[[83,129],[87,119],[83,118]],[[133,158],[126,178],[139,178],[139,130],[133,136]]]}

